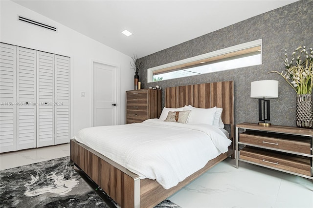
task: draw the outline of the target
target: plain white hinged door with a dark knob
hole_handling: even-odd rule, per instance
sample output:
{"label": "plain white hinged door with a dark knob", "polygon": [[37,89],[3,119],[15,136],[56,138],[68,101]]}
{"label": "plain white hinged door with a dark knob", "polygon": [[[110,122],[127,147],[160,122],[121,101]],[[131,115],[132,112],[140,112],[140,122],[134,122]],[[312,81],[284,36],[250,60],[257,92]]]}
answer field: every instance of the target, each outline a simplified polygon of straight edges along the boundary
{"label": "plain white hinged door with a dark knob", "polygon": [[93,63],[93,126],[116,125],[116,70]]}

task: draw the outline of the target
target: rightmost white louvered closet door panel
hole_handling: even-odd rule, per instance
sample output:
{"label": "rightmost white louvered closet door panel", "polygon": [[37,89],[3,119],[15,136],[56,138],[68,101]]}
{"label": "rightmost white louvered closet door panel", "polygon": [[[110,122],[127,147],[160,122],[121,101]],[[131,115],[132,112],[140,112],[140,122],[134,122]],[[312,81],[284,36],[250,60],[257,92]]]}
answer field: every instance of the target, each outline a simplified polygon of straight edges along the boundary
{"label": "rightmost white louvered closet door panel", "polygon": [[69,143],[69,58],[55,55],[55,144]]}

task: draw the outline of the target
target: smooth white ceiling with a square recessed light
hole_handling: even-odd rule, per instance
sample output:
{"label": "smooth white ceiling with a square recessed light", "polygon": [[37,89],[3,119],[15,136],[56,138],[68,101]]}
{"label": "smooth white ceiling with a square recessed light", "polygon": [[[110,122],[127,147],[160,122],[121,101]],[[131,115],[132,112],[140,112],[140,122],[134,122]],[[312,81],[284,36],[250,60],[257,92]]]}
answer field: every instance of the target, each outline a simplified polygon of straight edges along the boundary
{"label": "smooth white ceiling with a square recessed light", "polygon": [[[297,0],[13,1],[128,56],[141,58]],[[125,29],[133,35],[123,35]]]}

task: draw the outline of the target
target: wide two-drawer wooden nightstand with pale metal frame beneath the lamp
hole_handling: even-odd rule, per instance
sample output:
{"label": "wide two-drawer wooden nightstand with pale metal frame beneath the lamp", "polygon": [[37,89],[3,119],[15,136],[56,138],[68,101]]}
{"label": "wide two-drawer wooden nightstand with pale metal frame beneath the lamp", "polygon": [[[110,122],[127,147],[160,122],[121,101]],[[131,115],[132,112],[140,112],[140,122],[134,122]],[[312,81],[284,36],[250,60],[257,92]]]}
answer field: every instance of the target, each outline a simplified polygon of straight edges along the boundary
{"label": "wide two-drawer wooden nightstand with pale metal frame beneath the lamp", "polygon": [[313,179],[313,129],[291,126],[236,125],[239,161]]}

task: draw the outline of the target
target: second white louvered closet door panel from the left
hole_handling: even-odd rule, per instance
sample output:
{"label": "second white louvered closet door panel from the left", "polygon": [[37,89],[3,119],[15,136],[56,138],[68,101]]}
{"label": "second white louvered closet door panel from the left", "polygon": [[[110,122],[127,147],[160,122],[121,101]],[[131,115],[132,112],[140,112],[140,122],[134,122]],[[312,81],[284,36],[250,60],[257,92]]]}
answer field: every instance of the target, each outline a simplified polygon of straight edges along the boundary
{"label": "second white louvered closet door panel from the left", "polygon": [[37,51],[17,47],[16,150],[36,147]]}

